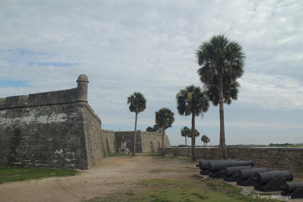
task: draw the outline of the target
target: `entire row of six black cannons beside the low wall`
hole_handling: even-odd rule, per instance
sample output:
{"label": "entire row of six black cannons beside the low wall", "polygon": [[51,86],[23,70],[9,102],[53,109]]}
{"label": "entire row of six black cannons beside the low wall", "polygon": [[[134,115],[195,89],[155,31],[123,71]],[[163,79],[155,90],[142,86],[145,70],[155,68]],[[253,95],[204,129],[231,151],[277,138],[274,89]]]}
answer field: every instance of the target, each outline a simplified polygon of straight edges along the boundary
{"label": "entire row of six black cannons beside the low wall", "polygon": [[271,192],[281,191],[282,196],[303,198],[303,182],[287,183],[294,175],[291,171],[270,171],[268,168],[253,168],[254,161],[210,160],[197,164],[201,175],[211,178],[223,178],[228,182],[237,182],[241,186],[254,186],[254,189]]}

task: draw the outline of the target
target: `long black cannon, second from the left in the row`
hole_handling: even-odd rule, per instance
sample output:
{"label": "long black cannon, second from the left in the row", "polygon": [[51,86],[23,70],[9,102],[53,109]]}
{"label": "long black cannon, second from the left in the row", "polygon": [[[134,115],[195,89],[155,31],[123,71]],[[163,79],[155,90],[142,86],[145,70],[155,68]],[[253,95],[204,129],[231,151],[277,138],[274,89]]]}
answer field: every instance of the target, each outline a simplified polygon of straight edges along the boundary
{"label": "long black cannon, second from the left in the row", "polygon": [[209,162],[208,170],[211,172],[208,176],[212,178],[223,178],[222,171],[225,167],[234,166],[252,166],[254,167],[254,161],[223,161],[223,162]]}

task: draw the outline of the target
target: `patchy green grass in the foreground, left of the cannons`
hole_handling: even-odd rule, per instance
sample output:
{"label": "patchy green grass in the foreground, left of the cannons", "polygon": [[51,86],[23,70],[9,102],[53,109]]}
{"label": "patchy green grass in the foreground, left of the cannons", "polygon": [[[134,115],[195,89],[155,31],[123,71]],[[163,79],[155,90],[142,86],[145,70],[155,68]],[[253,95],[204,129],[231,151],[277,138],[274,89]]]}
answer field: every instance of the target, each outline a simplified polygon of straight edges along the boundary
{"label": "patchy green grass in the foreground, left of the cannons", "polygon": [[[207,178],[191,180],[173,179],[149,179],[137,184],[138,188],[146,187],[144,192],[128,190],[127,192],[105,194],[104,197],[96,197],[85,202],[119,201],[119,202],[276,202],[275,199],[253,199],[251,192],[248,196],[241,195],[243,188],[232,186],[228,183]],[[244,187],[245,188],[245,187]],[[280,193],[280,192],[279,192]],[[274,194],[279,194],[274,193]],[[259,193],[258,193],[259,194]],[[269,195],[272,193],[261,193]]]}

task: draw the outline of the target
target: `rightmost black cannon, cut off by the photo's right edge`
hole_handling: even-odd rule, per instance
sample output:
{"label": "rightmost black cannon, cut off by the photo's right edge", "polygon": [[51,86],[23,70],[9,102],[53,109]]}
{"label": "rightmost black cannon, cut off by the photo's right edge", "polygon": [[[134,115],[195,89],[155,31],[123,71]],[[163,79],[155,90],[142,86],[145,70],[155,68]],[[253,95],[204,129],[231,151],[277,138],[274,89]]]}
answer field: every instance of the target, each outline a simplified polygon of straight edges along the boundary
{"label": "rightmost black cannon, cut off by the photo's right edge", "polygon": [[286,182],[280,189],[282,190],[281,196],[288,196],[292,199],[303,198],[303,182]]}

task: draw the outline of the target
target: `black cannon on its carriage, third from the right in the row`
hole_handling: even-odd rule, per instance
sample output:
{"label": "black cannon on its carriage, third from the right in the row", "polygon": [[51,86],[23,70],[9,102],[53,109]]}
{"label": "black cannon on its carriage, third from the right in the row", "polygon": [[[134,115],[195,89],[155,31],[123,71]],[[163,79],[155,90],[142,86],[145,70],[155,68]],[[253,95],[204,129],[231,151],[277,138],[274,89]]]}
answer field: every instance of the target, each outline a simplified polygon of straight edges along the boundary
{"label": "black cannon on its carriage, third from the right in the row", "polygon": [[247,170],[239,170],[235,175],[238,177],[237,184],[241,186],[254,186],[256,181],[253,181],[252,178],[255,177],[256,173],[269,172],[268,168],[253,168]]}

